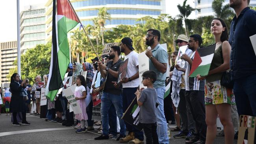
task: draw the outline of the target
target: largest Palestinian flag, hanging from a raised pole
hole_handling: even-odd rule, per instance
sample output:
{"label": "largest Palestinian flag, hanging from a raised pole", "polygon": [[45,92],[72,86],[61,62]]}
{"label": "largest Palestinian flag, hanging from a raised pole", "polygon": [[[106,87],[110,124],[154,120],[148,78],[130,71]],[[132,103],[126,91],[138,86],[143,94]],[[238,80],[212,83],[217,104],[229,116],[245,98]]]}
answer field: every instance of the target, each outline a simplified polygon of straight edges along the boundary
{"label": "largest Palestinian flag, hanging from a raised pole", "polygon": [[[57,4],[56,4],[57,1]],[[67,33],[78,23],[68,0],[53,0],[52,55],[45,95],[54,100],[69,65],[69,42]]]}

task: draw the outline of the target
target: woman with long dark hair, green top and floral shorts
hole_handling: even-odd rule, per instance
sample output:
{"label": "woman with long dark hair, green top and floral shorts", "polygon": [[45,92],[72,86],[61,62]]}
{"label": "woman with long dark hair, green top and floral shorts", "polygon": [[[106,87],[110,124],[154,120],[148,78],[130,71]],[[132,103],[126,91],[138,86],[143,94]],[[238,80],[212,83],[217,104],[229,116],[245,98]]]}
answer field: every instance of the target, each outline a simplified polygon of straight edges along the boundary
{"label": "woman with long dark hair, green top and floral shorts", "polygon": [[231,105],[235,104],[232,89],[223,87],[221,76],[229,69],[231,46],[228,43],[228,30],[225,22],[214,18],[211,22],[211,33],[214,35],[216,47],[208,76],[197,76],[206,79],[205,109],[206,109],[206,144],[212,144],[217,133],[216,119],[219,114],[224,126],[225,144],[233,144],[234,128],[231,119]]}

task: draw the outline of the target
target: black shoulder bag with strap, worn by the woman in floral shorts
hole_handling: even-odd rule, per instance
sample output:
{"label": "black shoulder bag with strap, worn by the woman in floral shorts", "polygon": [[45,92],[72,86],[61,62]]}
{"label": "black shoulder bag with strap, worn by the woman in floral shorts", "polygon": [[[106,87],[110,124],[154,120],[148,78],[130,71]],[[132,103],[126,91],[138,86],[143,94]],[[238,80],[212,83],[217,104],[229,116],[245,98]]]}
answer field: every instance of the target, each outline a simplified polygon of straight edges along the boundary
{"label": "black shoulder bag with strap, worn by the woman in floral shorts", "polygon": [[[223,54],[222,54],[222,44],[221,44],[221,61],[222,61],[222,63],[224,63]],[[221,76],[221,85],[226,88],[233,89],[234,81],[231,79],[230,70],[223,72],[223,74]]]}

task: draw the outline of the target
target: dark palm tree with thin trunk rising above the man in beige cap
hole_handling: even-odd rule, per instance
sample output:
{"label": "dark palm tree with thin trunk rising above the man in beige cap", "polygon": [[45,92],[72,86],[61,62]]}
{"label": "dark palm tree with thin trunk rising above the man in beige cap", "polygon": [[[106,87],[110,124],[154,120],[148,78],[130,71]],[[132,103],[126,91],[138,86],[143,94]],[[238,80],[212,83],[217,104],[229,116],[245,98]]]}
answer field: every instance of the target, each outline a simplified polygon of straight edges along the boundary
{"label": "dark palm tree with thin trunk rising above the man in beige cap", "polygon": [[187,0],[184,0],[183,5],[181,6],[180,4],[178,4],[177,7],[180,11],[180,16],[184,18],[186,35],[188,36],[186,19],[195,9],[193,9],[189,4],[186,5],[186,3],[187,3]]}

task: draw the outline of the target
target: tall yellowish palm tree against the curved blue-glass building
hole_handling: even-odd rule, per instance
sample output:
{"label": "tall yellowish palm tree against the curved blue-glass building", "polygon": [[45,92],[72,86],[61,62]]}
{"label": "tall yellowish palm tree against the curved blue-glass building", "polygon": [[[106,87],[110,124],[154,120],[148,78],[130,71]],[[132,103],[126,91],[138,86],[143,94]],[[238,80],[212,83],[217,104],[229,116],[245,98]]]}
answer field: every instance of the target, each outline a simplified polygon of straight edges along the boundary
{"label": "tall yellowish palm tree against the curved blue-glass building", "polygon": [[101,35],[102,35],[102,45],[104,46],[104,30],[105,30],[105,24],[106,20],[110,20],[110,14],[108,13],[106,7],[102,7],[98,9],[98,17],[97,22],[101,29]]}

